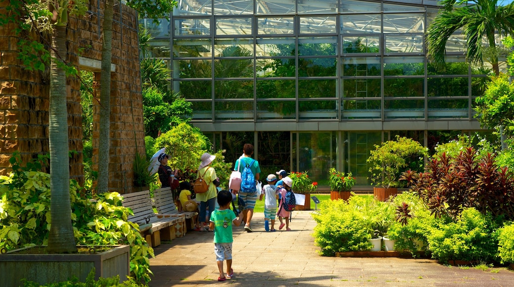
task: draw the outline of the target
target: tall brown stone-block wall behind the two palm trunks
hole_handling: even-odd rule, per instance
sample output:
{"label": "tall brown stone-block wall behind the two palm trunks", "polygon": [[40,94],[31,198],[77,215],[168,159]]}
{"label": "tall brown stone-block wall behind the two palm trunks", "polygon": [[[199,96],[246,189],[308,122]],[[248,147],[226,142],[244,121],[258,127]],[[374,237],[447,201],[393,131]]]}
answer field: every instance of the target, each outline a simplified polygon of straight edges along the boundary
{"label": "tall brown stone-block wall behind the two palm trunks", "polygon": [[[0,2],[0,13],[6,13]],[[68,63],[79,67],[80,56],[101,60],[101,25],[103,1],[90,1],[89,11],[72,17],[68,23]],[[9,169],[9,158],[19,151],[24,163],[38,154],[48,153],[48,71],[29,72],[17,55],[14,27],[0,27],[0,174]],[[113,23],[113,58],[111,74],[111,148],[109,158],[109,191],[132,192],[132,163],[136,150],[144,154],[143,110],[139,70],[137,13],[125,5],[115,5]],[[83,67],[84,68],[84,67]],[[85,69],[88,69],[87,67]],[[94,94],[99,98],[100,73],[95,69]],[[80,81],[68,78],[68,132],[70,176],[84,182],[82,156],[82,116]],[[93,169],[98,170],[99,102],[94,107]]]}

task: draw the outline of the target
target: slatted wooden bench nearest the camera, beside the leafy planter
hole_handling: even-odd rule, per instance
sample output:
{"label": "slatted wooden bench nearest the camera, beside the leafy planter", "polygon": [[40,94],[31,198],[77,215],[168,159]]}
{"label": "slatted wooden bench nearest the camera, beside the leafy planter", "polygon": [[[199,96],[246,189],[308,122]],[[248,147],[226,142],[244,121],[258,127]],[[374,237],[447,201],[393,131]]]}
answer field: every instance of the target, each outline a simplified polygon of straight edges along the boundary
{"label": "slatted wooden bench nearest the camera, beside the leafy planter", "polygon": [[140,226],[139,232],[152,247],[160,245],[161,239],[173,240],[185,232],[185,217],[155,214],[149,190],[123,194],[123,206],[132,209],[134,215],[129,216],[128,221]]}

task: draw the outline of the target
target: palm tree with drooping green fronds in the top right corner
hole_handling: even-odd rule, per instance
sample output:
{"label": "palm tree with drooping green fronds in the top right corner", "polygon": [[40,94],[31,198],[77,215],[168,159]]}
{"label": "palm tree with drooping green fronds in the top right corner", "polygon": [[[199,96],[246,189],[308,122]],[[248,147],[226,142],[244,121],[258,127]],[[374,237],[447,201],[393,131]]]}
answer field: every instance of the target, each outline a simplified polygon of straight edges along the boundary
{"label": "palm tree with drooping green fronds in the top right corner", "polygon": [[[514,30],[514,5],[498,6],[499,0],[442,0],[444,6],[427,29],[428,57],[442,66],[446,56],[446,42],[458,29],[466,37],[466,61],[483,64],[482,39],[496,49],[495,32],[509,34]],[[495,75],[500,74],[498,54],[491,64]]]}

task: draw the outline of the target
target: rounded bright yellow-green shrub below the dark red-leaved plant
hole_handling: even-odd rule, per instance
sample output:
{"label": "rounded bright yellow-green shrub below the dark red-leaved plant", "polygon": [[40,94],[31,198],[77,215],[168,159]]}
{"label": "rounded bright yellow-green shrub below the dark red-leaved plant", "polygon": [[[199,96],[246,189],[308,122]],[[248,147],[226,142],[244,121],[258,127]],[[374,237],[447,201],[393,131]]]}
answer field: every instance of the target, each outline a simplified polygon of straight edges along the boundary
{"label": "rounded bright yellow-green shrub below the dark red-leaved plant", "polygon": [[452,259],[495,261],[498,249],[497,228],[490,214],[465,208],[456,220],[437,222],[427,236],[429,250],[433,258],[443,262]]}

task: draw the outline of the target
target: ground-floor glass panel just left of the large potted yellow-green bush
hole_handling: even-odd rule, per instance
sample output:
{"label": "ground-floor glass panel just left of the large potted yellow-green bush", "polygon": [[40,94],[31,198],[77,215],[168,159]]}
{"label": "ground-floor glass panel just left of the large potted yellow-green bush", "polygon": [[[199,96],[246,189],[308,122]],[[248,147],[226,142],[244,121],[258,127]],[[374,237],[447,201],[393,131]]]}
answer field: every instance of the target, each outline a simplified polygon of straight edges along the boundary
{"label": "ground-floor glass panel just left of the large potted yellow-green bush", "polygon": [[347,132],[344,133],[344,152],[347,155],[343,160],[346,172],[352,172],[356,178],[356,184],[367,186],[371,182],[368,180],[371,164],[366,162],[370,157],[370,151],[375,149],[375,145],[380,145],[382,133],[379,132]]}

